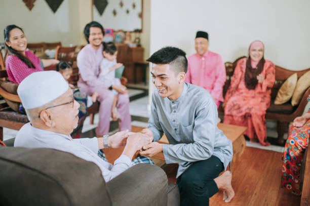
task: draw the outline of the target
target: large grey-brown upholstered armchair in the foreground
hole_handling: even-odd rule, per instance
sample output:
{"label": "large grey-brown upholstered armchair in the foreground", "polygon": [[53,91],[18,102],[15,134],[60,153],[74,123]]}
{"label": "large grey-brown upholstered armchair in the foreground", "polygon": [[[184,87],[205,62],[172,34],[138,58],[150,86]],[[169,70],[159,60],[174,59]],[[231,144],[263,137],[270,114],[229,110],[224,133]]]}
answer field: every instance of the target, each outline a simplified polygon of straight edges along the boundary
{"label": "large grey-brown upholstered armchair in the foreground", "polygon": [[0,146],[0,205],[179,205],[165,172],[136,164],[109,182],[99,167],[54,149]]}

